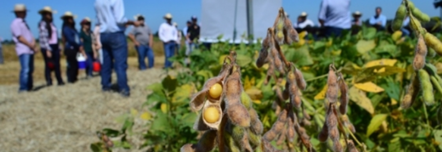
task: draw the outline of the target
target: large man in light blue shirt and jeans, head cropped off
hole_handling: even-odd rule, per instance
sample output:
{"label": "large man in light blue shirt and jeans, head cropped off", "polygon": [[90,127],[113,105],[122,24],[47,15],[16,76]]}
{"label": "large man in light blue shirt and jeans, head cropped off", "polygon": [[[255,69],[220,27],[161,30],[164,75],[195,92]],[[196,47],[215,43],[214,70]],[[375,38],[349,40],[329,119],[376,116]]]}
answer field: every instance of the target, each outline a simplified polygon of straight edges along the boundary
{"label": "large man in light blue shirt and jeans, head cropped off", "polygon": [[117,83],[122,96],[128,97],[127,85],[127,41],[124,31],[127,25],[139,25],[124,17],[123,0],[95,0],[95,12],[100,24],[100,40],[103,49],[101,84],[103,91],[111,91],[112,65],[117,73]]}

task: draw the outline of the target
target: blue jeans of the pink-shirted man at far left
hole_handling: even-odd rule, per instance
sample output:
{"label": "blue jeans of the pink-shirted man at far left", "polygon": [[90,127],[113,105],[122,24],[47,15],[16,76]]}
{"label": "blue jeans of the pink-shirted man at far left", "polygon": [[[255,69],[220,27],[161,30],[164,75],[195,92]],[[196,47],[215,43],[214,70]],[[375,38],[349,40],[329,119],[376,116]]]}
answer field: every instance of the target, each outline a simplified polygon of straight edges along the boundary
{"label": "blue jeans of the pink-shirted man at far left", "polygon": [[20,88],[18,91],[30,91],[33,87],[32,72],[34,71],[34,55],[22,54],[18,56],[22,69],[20,70]]}

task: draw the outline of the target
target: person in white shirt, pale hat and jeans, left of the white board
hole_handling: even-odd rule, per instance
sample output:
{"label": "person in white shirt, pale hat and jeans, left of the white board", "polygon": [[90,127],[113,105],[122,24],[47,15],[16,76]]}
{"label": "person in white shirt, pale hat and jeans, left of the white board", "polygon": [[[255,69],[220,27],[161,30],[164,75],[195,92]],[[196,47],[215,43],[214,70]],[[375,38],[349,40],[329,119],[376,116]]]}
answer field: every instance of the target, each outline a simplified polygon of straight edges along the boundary
{"label": "person in white shirt, pale hat and jeans, left of the white board", "polygon": [[160,25],[158,36],[160,37],[160,40],[163,41],[164,46],[164,55],[166,57],[164,68],[171,68],[172,62],[169,61],[169,58],[175,55],[175,47],[178,41],[178,30],[172,25],[172,15],[170,13],[164,15],[164,19],[166,22]]}

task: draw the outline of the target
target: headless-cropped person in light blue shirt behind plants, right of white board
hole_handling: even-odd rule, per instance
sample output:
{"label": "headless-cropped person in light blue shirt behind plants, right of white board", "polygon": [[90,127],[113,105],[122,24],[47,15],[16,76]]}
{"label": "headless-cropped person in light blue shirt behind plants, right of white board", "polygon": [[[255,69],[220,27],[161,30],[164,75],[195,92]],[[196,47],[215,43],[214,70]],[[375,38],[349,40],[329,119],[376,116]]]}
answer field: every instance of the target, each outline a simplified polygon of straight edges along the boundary
{"label": "headless-cropped person in light blue shirt behind plants, right of white board", "polygon": [[325,37],[340,36],[352,27],[350,0],[322,0],[318,18]]}

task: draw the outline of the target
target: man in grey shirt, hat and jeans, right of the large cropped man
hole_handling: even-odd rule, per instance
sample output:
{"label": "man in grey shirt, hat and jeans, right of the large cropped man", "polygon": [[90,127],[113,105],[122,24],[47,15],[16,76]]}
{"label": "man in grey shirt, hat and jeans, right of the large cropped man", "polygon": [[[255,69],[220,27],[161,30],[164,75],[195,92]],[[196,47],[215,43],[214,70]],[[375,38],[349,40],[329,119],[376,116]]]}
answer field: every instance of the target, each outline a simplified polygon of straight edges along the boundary
{"label": "man in grey shirt, hat and jeans, right of the large cropped man", "polygon": [[149,68],[153,67],[154,56],[153,56],[153,34],[149,26],[146,25],[143,15],[136,15],[133,18],[138,20],[141,24],[140,26],[134,26],[132,31],[130,31],[128,37],[135,44],[135,48],[138,52],[138,64],[140,70],[146,70],[146,63],[144,60],[147,57],[149,60]]}

